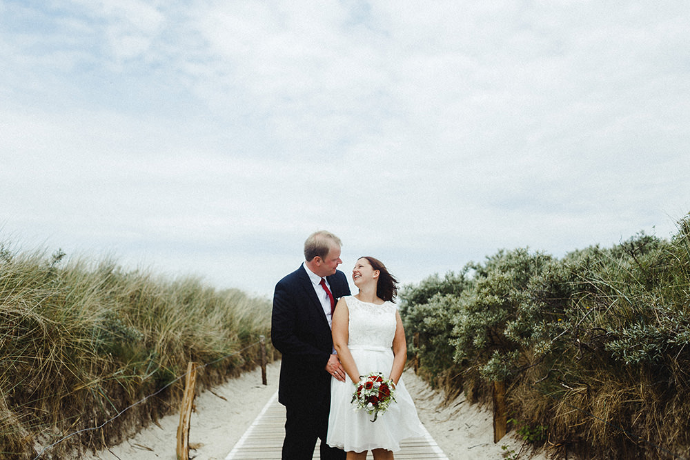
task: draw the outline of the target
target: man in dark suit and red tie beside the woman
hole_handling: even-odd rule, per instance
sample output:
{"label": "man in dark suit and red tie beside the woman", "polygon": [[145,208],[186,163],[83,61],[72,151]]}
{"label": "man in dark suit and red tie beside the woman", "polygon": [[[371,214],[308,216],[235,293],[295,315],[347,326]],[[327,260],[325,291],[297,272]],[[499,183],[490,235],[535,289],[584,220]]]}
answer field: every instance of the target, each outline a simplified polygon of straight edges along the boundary
{"label": "man in dark suit and red tie beside the woman", "polygon": [[331,336],[333,306],[350,295],[345,274],[337,270],[340,246],[330,232],[311,234],[304,242],[302,266],[275,286],[270,337],[282,354],[278,401],[287,413],[283,460],[311,460],[317,438],[322,460],[345,459],[345,452],[326,444],[331,376],[345,380]]}

